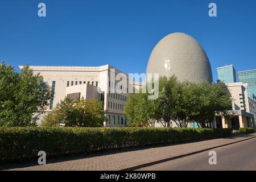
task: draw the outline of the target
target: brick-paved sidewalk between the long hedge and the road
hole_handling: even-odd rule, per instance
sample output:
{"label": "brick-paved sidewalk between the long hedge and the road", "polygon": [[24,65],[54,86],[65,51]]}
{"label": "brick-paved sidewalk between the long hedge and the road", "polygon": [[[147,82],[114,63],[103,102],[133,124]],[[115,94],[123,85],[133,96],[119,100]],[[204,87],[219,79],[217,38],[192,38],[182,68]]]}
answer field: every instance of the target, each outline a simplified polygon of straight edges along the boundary
{"label": "brick-paved sidewalk between the long hedge and the road", "polygon": [[121,170],[140,166],[142,164],[152,163],[163,159],[173,158],[180,155],[189,154],[208,148],[218,147],[221,145],[238,142],[241,140],[256,137],[256,134],[245,135],[241,137],[229,137],[213,140],[205,140],[201,142],[176,144],[171,146],[146,148],[144,150],[113,152],[105,155],[85,157],[85,158],[69,158],[70,160],[51,161],[43,166],[19,166],[10,167],[11,170]]}

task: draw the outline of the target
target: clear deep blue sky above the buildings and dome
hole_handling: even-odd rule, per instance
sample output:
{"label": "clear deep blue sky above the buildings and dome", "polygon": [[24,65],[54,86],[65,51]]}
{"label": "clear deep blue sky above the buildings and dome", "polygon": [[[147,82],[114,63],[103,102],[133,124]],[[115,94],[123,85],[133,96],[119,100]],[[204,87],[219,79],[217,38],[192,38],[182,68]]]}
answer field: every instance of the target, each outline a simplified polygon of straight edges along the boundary
{"label": "clear deep blue sky above the buildings and dome", "polygon": [[[38,3],[47,6],[39,18]],[[210,2],[217,18],[208,16]],[[256,69],[255,0],[6,0],[0,1],[0,60],[18,65],[104,65],[146,72],[152,49],[185,32],[216,68]]]}

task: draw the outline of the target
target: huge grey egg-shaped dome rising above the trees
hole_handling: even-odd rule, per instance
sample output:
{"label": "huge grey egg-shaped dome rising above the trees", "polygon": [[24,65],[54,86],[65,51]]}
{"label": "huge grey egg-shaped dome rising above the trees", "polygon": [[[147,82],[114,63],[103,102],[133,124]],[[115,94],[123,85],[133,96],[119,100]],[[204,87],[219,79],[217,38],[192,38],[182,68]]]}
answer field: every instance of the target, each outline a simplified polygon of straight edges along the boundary
{"label": "huge grey egg-shaped dome rising above the trees", "polygon": [[156,44],[148,60],[147,73],[167,77],[175,75],[179,81],[213,81],[204,49],[197,40],[184,33],[167,35]]}

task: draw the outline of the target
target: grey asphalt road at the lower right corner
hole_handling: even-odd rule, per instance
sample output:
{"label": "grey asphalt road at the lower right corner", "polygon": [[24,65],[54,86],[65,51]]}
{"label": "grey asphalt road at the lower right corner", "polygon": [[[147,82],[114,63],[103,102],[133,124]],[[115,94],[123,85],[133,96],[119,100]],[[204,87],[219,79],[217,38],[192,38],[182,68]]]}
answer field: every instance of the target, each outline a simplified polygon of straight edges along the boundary
{"label": "grey asphalt road at the lower right corner", "polygon": [[186,156],[184,158],[170,160],[154,166],[144,167],[138,170],[148,171],[216,171],[216,170],[253,170],[256,171],[256,138],[246,140],[229,146],[215,148],[217,164],[209,164],[209,151]]}

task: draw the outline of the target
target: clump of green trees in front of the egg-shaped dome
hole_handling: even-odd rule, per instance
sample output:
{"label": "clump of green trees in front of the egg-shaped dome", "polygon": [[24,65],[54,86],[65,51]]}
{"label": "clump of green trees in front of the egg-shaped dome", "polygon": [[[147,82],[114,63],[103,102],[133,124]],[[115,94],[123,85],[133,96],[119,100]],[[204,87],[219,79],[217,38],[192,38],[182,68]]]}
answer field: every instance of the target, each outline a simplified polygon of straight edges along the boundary
{"label": "clump of green trees in front of the egg-shaped dome", "polygon": [[148,93],[129,94],[125,112],[129,126],[134,127],[153,126],[154,121],[164,127],[171,127],[171,121],[178,127],[187,127],[189,122],[209,127],[214,115],[228,115],[230,106],[225,84],[179,82],[171,76],[160,77],[156,100],[148,100]]}

